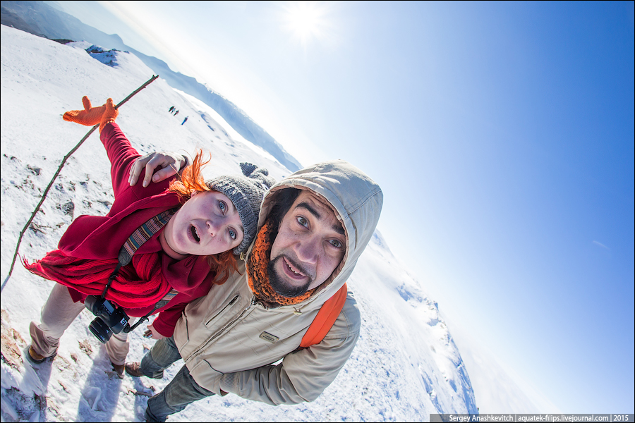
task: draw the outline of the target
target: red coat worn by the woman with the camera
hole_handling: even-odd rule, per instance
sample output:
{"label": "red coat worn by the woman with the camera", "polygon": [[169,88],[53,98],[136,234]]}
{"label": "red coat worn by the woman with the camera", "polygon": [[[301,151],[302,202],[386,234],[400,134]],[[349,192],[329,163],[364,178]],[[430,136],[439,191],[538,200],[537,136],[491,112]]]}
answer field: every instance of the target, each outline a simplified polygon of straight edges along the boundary
{"label": "red coat worn by the woman with the camera", "polygon": [[[119,125],[106,125],[100,139],[111,163],[115,200],[110,211],[106,216],[78,216],[62,235],[59,250],[49,252],[47,257],[33,264],[25,263],[32,273],[68,286],[75,302],[83,301],[87,295],[100,295],[107,278],[99,278],[99,281],[93,281],[88,286],[82,284],[84,276],[81,275],[94,277],[95,269],[103,269],[102,274],[109,274],[116,265],[121,246],[139,226],[157,214],[180,205],[176,194],[167,191],[169,180],[151,183],[147,188],[143,188],[141,183],[133,187],[128,184],[129,170],[140,154],[123,135]],[[163,336],[172,336],[183,309],[188,302],[209,292],[216,272],[210,269],[205,257],[189,256],[182,260],[169,257],[159,243],[159,233],[161,231],[147,240],[135,252],[133,262],[121,270],[133,282],[119,283],[116,290],[109,289],[107,298],[123,306],[131,317],[141,317],[150,312],[152,305],[140,308],[133,305],[143,302],[145,287],[143,283],[135,281],[143,280],[143,276],[138,275],[147,273],[148,269],[144,266],[147,266],[148,261],[152,262],[163,282],[159,287],[160,293],[157,291],[159,298],[170,288],[179,291],[160,309],[159,316],[152,324]],[[47,264],[47,258],[52,265]],[[81,275],[78,270],[80,267],[83,268]],[[154,304],[155,301],[150,303]]]}

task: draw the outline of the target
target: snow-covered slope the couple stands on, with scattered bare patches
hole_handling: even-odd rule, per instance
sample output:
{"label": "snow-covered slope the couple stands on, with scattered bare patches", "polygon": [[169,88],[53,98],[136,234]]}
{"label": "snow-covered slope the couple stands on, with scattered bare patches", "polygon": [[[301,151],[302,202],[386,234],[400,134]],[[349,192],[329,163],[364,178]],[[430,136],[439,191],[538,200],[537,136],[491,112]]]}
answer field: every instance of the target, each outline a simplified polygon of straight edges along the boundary
{"label": "snow-covered slope the couple stands on, with scattered bare patches", "polygon": [[[181,367],[171,367],[162,381],[118,379],[104,348],[87,330],[92,315],[85,311],[64,334],[52,363],[35,372],[21,355],[29,342],[29,323],[39,319],[53,283],[28,274],[20,264],[5,279],[20,230],[61,159],[87,132],[64,122],[63,112],[78,109],[84,94],[93,104],[107,97],[119,102],[151,76],[132,54],[99,52],[82,42],[58,44],[1,27],[3,421],[138,421],[148,396]],[[170,106],[179,109],[179,116],[168,113]],[[142,153],[209,151],[207,176],[237,173],[239,161],[265,166],[277,179],[290,173],[205,104],[160,78],[123,105],[117,121]],[[95,133],[67,161],[25,234],[20,254],[40,258],[54,249],[75,216],[105,214],[113,200],[108,168]],[[271,407],[233,395],[212,397],[170,420],[423,421],[434,412],[476,412],[467,369],[437,305],[400,268],[379,233],[358,262],[349,288],[361,307],[361,337],[337,379],[315,402]],[[130,360],[140,360],[152,345],[141,332],[131,333]]]}

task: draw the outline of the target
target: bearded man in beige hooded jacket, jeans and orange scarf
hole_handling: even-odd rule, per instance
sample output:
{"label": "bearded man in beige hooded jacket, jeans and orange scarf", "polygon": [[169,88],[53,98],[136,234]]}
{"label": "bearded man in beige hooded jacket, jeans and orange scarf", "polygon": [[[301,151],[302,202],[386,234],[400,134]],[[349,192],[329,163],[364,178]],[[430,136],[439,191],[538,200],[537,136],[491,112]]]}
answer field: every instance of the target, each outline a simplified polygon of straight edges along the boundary
{"label": "bearded man in beige hooded jacket, jeans and orange scarf", "polygon": [[174,336],[159,339],[140,363],[126,363],[132,376],[162,379],[172,363],[185,362],[147,400],[146,421],[164,422],[214,394],[271,405],[320,396],[359,336],[346,280],[373,237],[382,198],[373,180],[341,160],[274,185],[239,271],[191,302]]}

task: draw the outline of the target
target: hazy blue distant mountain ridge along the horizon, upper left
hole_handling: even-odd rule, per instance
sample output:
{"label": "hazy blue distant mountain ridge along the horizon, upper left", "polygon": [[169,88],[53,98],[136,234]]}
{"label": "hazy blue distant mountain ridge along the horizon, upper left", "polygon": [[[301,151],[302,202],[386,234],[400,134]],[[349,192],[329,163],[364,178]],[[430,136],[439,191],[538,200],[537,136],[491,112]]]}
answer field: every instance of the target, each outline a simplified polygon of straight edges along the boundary
{"label": "hazy blue distant mountain ridge along the horizon, upper left", "polygon": [[56,4],[56,1],[2,1],[2,23],[35,35],[43,35],[49,39],[86,40],[92,44],[98,44],[104,49],[130,51],[155,74],[161,75],[161,78],[166,80],[171,87],[186,92],[212,107],[243,138],[266,149],[286,168],[297,171],[302,167],[291,154],[286,152],[282,145],[274,140],[274,137],[229,99],[214,92],[191,76],[172,71],[164,61],[128,47],[119,35],[109,35],[90,25],[85,25],[60,9],[61,6]]}

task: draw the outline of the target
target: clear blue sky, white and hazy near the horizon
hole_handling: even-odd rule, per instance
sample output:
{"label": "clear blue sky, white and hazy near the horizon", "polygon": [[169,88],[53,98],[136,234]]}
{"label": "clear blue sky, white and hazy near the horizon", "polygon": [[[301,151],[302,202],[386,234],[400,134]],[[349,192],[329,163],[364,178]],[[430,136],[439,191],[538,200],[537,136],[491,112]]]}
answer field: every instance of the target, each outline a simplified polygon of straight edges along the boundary
{"label": "clear blue sky, white and hazy near the horizon", "polygon": [[395,255],[560,410],[634,412],[633,2],[59,3],[377,180]]}

